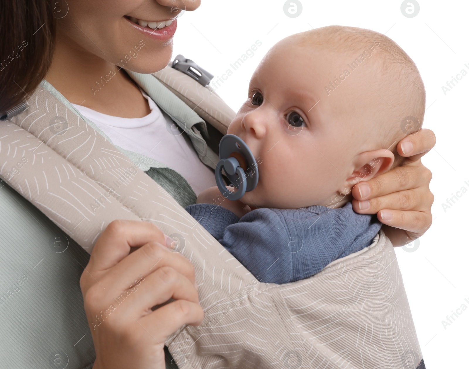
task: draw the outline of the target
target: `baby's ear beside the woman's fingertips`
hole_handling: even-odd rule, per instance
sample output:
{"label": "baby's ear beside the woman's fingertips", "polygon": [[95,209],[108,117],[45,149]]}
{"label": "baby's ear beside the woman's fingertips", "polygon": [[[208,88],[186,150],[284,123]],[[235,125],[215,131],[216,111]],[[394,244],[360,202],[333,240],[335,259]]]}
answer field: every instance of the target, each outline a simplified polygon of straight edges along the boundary
{"label": "baby's ear beside the woman's fingertips", "polygon": [[394,163],[394,154],[386,149],[365,151],[358,154],[354,161],[354,172],[347,178],[353,184],[369,181],[379,174],[387,172]]}

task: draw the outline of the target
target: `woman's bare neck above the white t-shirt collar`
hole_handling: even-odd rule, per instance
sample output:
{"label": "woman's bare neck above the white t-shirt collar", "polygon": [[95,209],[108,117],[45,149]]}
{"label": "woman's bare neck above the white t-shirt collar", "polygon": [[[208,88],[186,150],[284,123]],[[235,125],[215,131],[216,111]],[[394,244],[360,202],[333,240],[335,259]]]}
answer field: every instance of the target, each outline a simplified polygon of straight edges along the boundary
{"label": "woman's bare neck above the white t-shirt collar", "polygon": [[151,112],[148,101],[124,70],[60,33],[45,80],[69,102],[100,113],[140,118]]}

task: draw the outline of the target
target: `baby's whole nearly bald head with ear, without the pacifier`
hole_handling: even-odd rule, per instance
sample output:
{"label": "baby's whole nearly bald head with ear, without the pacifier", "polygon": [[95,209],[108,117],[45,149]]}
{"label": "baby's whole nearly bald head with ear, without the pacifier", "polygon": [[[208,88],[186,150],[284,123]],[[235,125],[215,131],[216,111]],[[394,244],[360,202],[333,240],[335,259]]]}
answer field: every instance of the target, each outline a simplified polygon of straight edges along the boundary
{"label": "baby's whole nearly bald head with ear, without the pacifier", "polygon": [[416,65],[385,35],[329,26],[287,37],[257,67],[228,128],[259,163],[257,187],[241,200],[342,206],[358,181],[402,164],[396,145],[424,110]]}

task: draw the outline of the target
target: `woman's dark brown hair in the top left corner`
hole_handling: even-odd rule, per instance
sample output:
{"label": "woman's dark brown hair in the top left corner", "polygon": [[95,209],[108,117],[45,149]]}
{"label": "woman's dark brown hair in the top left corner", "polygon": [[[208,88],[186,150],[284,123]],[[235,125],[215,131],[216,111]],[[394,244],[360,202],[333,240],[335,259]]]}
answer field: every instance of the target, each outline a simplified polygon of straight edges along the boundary
{"label": "woman's dark brown hair in the top left corner", "polygon": [[0,1],[0,115],[24,101],[50,68],[57,4]]}

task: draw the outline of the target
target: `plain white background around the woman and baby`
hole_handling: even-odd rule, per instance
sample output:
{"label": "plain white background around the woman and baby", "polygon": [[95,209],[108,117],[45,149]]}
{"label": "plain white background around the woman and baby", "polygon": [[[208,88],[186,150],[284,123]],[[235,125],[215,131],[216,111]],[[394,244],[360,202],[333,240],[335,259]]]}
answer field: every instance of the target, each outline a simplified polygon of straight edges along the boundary
{"label": "plain white background around the woman and baby", "polygon": [[[427,368],[467,368],[469,191],[446,211],[442,203],[461,187],[469,190],[469,75],[446,95],[442,86],[461,69],[469,72],[464,66],[469,65],[469,3],[418,0],[419,14],[407,18],[401,1],[301,1],[302,14],[289,18],[283,13],[285,1],[202,0],[199,9],[179,18],[173,55],[195,60],[216,79],[261,41],[255,55],[217,89],[234,111],[246,99],[250,76],[267,50],[293,33],[332,24],[369,28],[386,33],[410,55],[426,88],[424,128],[437,136],[435,148],[423,158],[433,173],[435,202],[433,224],[418,249],[396,249],[396,254]],[[442,321],[462,304],[468,309],[459,310],[462,314],[445,329]]]}

